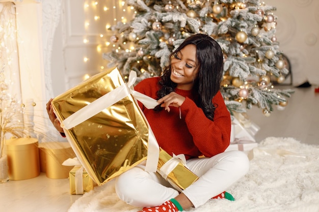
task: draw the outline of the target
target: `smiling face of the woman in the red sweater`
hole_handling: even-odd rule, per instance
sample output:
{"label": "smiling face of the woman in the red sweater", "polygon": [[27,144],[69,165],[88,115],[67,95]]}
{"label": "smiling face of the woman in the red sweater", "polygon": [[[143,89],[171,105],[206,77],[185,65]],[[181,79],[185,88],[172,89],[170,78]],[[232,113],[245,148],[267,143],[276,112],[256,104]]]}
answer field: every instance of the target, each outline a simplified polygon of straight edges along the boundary
{"label": "smiling face of the woman in the red sweater", "polygon": [[173,55],[171,59],[171,80],[178,89],[190,90],[197,77],[196,46],[189,44]]}

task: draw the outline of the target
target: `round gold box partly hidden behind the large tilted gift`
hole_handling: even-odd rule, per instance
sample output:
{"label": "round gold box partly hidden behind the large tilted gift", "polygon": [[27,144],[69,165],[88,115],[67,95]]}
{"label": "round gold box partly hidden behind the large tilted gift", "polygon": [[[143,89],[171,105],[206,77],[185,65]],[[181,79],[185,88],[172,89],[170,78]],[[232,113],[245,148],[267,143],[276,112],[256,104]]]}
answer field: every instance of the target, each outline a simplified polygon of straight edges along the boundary
{"label": "round gold box partly hidden behind the large tilted gift", "polygon": [[69,177],[72,167],[63,166],[68,158],[74,158],[75,154],[68,142],[42,142],[39,143],[40,170],[51,179],[63,179]]}

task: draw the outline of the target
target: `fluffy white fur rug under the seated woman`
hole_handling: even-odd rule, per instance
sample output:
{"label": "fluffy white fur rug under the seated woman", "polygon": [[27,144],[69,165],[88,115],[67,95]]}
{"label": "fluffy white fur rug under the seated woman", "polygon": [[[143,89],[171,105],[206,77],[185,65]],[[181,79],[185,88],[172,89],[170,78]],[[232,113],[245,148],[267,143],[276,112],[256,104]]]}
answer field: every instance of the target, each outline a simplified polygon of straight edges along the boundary
{"label": "fluffy white fur rug under the seated woman", "polygon": [[[209,200],[186,211],[319,212],[319,145],[269,137],[248,153],[250,170],[228,191],[235,201]],[[68,212],[136,212],[115,194],[113,180],[77,199]]]}

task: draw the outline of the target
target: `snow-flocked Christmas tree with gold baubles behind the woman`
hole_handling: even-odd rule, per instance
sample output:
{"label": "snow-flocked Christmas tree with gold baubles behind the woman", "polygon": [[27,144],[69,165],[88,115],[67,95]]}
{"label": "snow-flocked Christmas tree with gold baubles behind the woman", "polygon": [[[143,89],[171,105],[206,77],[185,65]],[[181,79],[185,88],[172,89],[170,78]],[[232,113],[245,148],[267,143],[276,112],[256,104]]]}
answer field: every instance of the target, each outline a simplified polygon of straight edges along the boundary
{"label": "snow-flocked Christmas tree with gold baubles behind the woman", "polygon": [[[135,17],[112,27],[111,41],[117,47],[103,54],[109,66],[117,66],[123,76],[130,70],[138,73],[139,80],[161,75],[169,54],[185,38],[202,33],[222,47],[221,92],[231,114],[256,105],[268,116],[273,105],[286,105],[293,90],[274,88],[288,74],[275,36],[275,7],[259,0],[126,2],[134,7]],[[125,49],[129,42],[135,43],[135,50]]]}

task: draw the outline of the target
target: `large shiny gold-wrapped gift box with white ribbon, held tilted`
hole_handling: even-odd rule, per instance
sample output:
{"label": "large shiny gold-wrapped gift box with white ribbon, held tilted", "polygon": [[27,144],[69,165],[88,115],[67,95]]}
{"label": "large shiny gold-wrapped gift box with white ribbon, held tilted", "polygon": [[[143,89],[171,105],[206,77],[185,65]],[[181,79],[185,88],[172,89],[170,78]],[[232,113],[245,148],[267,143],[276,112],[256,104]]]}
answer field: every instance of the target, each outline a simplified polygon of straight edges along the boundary
{"label": "large shiny gold-wrapped gift box with white ribbon, held tilted", "polygon": [[[135,79],[136,73],[131,72],[125,83],[117,68],[109,69],[51,103],[75,155],[97,185],[146,158],[146,170],[156,171],[158,144],[135,101],[149,97],[132,90]],[[157,102],[151,100],[153,108]]]}

